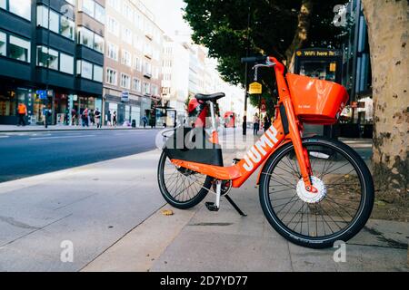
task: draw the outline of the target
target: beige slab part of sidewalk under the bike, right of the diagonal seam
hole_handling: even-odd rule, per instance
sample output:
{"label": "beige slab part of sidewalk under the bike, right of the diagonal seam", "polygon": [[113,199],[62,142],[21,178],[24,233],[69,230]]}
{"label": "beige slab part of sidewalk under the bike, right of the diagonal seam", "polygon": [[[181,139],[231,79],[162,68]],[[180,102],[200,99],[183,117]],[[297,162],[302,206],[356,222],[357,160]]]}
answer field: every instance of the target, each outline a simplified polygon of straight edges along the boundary
{"label": "beige slab part of sidewalk under the bike, right of the diagonal seam", "polygon": [[[241,152],[226,156],[235,154]],[[334,248],[298,247],[274,231],[260,208],[255,178],[232,193],[248,217],[225,199],[218,212],[204,203],[185,211],[165,206],[175,215],[158,210],[83,271],[408,271],[407,223],[370,219],[347,243],[346,262],[335,263]]]}

